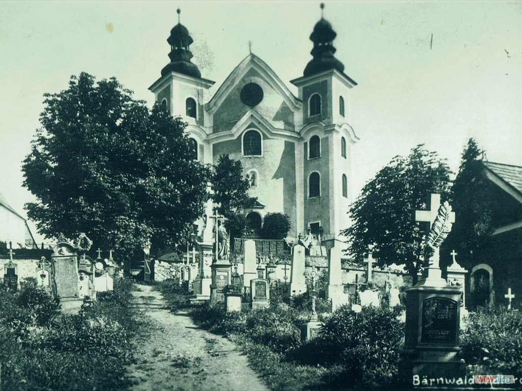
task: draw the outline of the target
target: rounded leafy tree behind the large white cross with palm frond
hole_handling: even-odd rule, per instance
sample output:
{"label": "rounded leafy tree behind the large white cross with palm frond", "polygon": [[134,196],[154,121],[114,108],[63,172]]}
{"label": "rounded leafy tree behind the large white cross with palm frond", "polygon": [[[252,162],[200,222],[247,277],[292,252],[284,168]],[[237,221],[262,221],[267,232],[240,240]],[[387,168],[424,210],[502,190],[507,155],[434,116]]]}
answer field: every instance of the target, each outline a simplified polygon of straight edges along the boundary
{"label": "rounded leafy tree behind the large white cross with palm frond", "polygon": [[445,161],[422,144],[407,157],[394,157],[367,182],[350,207],[353,224],[342,231],[349,253],[362,256],[374,246],[377,265],[405,265],[416,283],[424,231],[414,211],[426,208],[431,193],[448,198],[449,174]]}

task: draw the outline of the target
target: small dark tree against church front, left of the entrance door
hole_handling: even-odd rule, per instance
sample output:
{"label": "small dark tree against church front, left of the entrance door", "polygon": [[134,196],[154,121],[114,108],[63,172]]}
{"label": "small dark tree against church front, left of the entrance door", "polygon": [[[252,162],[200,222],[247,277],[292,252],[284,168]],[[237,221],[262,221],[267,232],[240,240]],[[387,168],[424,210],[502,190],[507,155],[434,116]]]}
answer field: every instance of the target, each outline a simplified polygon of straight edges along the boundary
{"label": "small dark tree against church front, left of the entrance door", "polygon": [[241,237],[246,227],[242,209],[252,206],[256,201],[256,198],[248,196],[250,183],[243,176],[243,165],[240,161],[231,159],[229,155],[219,156],[211,182],[214,192],[212,200],[218,204],[218,212],[227,218],[225,227],[230,237]]}

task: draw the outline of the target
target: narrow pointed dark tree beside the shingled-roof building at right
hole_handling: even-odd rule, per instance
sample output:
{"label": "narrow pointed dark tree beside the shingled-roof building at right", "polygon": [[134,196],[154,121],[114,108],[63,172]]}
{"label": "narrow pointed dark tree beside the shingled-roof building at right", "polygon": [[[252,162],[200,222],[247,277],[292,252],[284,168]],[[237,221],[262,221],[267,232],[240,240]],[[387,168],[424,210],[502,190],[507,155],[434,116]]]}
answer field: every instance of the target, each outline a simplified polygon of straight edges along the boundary
{"label": "narrow pointed dark tree beside the shingled-roof building at right", "polygon": [[459,172],[452,187],[455,224],[448,237],[448,242],[460,249],[459,258],[462,260],[470,251],[489,241],[493,202],[490,181],[484,175],[482,153],[471,138],[462,152]]}

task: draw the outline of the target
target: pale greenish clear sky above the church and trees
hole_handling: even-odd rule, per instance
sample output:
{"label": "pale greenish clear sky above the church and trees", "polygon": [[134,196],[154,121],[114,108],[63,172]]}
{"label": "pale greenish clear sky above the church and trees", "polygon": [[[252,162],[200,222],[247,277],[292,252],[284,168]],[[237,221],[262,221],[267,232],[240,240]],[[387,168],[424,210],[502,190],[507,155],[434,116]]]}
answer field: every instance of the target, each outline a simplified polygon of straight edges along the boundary
{"label": "pale greenish clear sky above the church and trees", "polygon": [[[21,162],[39,127],[43,94],[85,71],[116,77],[136,99],[168,62],[170,29],[194,39],[193,62],[215,89],[252,52],[290,80],[312,58],[316,1],[0,1],[0,191],[25,215],[34,201]],[[326,1],[336,57],[357,81],[348,122],[351,186],[414,146],[457,172],[470,137],[489,161],[522,165],[522,2]],[[432,39],[433,34],[433,39]],[[34,229],[33,229],[34,230]],[[38,241],[38,239],[37,239]]]}

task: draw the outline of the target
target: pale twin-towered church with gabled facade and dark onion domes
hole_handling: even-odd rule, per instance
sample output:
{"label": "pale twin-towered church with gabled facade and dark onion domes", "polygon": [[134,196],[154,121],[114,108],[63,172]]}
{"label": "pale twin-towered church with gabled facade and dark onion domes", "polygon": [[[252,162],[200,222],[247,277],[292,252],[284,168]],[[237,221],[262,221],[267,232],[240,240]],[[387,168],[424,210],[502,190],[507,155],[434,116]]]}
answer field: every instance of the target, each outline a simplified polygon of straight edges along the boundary
{"label": "pale twin-towered church with gabled facade and dark onion domes", "polygon": [[350,103],[357,83],[334,56],[336,35],[324,18],[315,24],[312,59],[290,81],[298,96],[252,53],[210,96],[214,82],[191,62],[187,28],[178,23],[170,32],[170,63],[149,90],[188,124],[194,158],[216,164],[228,154],[241,161],[258,199],[244,211],[252,229],[269,212],[290,216],[293,237],[310,229],[333,240],[349,224],[351,148],[358,141]]}

